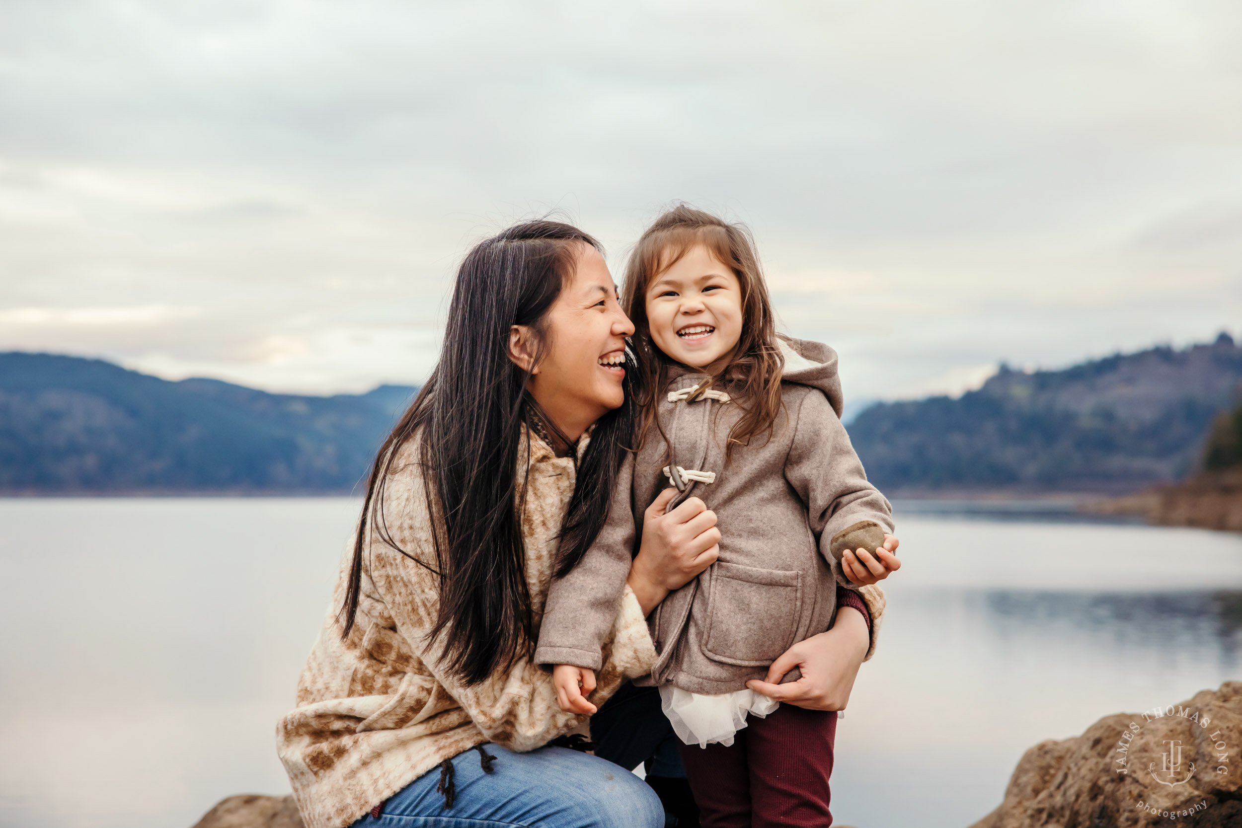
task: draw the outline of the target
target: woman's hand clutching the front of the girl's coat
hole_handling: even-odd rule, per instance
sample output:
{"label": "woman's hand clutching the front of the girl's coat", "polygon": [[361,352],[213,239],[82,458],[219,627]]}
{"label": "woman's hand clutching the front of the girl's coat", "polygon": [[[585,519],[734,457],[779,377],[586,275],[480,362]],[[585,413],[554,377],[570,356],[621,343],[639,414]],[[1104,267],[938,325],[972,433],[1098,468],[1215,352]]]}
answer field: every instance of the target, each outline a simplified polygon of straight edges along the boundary
{"label": "woman's hand clutching the front of the girl's coat", "polygon": [[676,495],[677,489],[664,489],[642,516],[642,544],[630,566],[627,583],[645,616],[720,554],[715,513],[698,498],[687,498],[666,515],[664,506]]}

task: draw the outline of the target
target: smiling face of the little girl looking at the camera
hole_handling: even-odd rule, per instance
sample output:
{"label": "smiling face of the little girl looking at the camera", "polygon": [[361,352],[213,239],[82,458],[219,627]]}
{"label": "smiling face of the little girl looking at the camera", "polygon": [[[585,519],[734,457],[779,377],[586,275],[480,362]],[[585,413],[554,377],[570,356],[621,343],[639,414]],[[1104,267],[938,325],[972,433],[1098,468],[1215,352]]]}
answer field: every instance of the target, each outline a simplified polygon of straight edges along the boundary
{"label": "smiling face of the little girl looking at the camera", "polygon": [[652,279],[646,308],[666,356],[712,375],[729,365],[741,339],[741,284],[707,247],[691,247]]}

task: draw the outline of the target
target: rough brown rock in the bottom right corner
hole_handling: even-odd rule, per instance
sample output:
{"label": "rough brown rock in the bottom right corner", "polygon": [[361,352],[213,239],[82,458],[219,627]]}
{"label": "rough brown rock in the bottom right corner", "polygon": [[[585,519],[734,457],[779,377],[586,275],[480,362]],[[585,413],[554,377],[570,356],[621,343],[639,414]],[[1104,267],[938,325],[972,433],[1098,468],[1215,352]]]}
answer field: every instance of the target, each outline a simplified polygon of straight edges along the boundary
{"label": "rough brown rock in the bottom right corner", "polygon": [[971,828],[1242,826],[1242,682],[1160,713],[1122,713],[1040,742],[1001,806]]}

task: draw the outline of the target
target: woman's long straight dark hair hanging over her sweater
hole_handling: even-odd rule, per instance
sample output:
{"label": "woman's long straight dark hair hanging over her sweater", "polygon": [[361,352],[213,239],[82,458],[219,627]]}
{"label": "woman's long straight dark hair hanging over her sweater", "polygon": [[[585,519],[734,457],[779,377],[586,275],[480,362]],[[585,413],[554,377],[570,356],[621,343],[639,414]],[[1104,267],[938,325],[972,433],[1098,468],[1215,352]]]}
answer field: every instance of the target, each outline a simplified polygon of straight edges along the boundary
{"label": "woman's long straight dark hair hanging over her sweater", "polygon": [[[584,246],[600,250],[576,227],[530,221],[478,243],[466,256],[440,361],[371,467],[340,610],[342,638],[350,636],[358,614],[370,520],[381,541],[440,577],[440,614],[428,636],[443,637],[443,669],[477,684],[529,654],[532,606],[518,493],[525,490],[529,470],[529,449],[520,451],[522,428],[533,412],[525,392],[530,374],[509,359],[509,329],[530,326],[538,362],[548,344],[546,313],[573,277]],[[628,380],[632,362],[627,369]],[[561,533],[563,571],[581,559],[607,516],[633,431],[632,397],[627,384],[625,403],[601,417],[591,433]],[[435,525],[435,569],[400,549],[384,518],[384,487],[394,458],[410,439],[419,441]]]}

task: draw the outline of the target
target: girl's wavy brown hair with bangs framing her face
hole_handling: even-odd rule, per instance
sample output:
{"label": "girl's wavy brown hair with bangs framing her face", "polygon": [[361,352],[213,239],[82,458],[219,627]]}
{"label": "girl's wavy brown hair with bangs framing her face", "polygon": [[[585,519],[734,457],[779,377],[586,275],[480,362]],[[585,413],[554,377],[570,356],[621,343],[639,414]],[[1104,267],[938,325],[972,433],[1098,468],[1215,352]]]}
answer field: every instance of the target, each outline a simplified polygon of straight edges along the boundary
{"label": "girl's wavy brown hair with bangs framing her face", "polygon": [[653,402],[664,391],[671,362],[651,339],[647,288],[698,245],[727,264],[741,286],[741,338],[733,361],[713,377],[713,382],[729,389],[733,401],[743,408],[741,418],[729,430],[728,457],[734,446],[748,446],[755,437],[771,434],[781,411],[780,376],[785,360],[776,344],[776,318],[750,230],[684,204],[647,227],[626,264],[621,304],[633,322],[631,343],[638,358],[636,385],[642,405],[638,444],[647,438],[652,425],[660,428]]}

